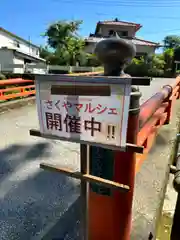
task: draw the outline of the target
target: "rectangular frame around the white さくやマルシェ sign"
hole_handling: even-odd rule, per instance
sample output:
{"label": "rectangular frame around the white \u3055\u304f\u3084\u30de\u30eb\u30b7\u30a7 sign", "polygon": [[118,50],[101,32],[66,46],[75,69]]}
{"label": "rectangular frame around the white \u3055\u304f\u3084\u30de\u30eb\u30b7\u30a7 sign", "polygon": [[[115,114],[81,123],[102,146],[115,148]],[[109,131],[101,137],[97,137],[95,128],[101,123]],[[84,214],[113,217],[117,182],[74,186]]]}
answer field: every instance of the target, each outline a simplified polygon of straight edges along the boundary
{"label": "rectangular frame around the white \u3055\u304f\u3084\u30de\u30eb\u30b7\u30a7 sign", "polygon": [[[129,104],[130,104],[130,89],[132,85],[132,78],[120,78],[120,77],[108,77],[108,76],[71,76],[71,75],[38,75],[36,76],[36,102],[37,102],[37,108],[38,108],[38,118],[39,118],[39,124],[40,121],[42,121],[42,116],[40,114],[41,111],[41,106],[40,106],[40,101],[41,96],[40,96],[40,90],[41,90],[41,84],[45,83],[47,86],[52,86],[53,84],[56,84],[57,86],[59,85],[67,85],[67,84],[73,84],[73,85],[78,85],[78,84],[83,84],[83,85],[88,85],[91,84],[93,85],[125,85],[128,86],[129,91],[128,91],[128,97],[126,97],[125,103],[128,106],[129,109]],[[125,98],[125,96],[124,96]],[[127,111],[127,109],[126,109]],[[126,113],[127,114],[127,113]],[[128,112],[129,115],[129,112]],[[123,116],[123,114],[122,114]],[[119,120],[120,121],[120,120]],[[122,146],[119,145],[111,145],[111,144],[104,144],[104,143],[99,143],[99,142],[91,142],[91,141],[84,141],[80,139],[71,139],[71,138],[66,138],[66,137],[61,137],[53,134],[46,134],[42,133],[45,138],[49,139],[56,139],[56,140],[62,140],[62,141],[69,141],[69,142],[76,142],[80,144],[89,144],[92,146],[97,146],[97,147],[103,147],[103,148],[108,148],[112,150],[121,150],[125,151],[126,150],[126,137],[127,137],[127,121],[128,121],[128,116],[126,116],[126,124],[125,127],[122,125],[121,132],[123,132],[123,137],[125,138],[124,143]],[[41,125],[41,124],[40,124]],[[124,129],[123,129],[124,128]],[[120,133],[119,133],[120,134]]]}

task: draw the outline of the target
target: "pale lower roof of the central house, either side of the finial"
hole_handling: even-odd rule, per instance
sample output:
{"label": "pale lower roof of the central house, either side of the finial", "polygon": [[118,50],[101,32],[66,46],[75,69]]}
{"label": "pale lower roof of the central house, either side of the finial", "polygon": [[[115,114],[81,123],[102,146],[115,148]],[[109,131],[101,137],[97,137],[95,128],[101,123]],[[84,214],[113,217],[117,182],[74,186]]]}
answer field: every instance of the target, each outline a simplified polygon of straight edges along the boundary
{"label": "pale lower roof of the central house, either side of the finial", "polygon": [[[98,43],[98,42],[100,42],[104,39],[105,38],[89,37],[89,38],[85,38],[85,41],[86,42]],[[151,41],[147,41],[147,40],[142,40],[142,39],[138,39],[138,38],[124,39],[124,40],[133,42],[135,45],[154,46],[154,47],[159,46],[159,43],[155,43],[155,42],[151,42]]]}

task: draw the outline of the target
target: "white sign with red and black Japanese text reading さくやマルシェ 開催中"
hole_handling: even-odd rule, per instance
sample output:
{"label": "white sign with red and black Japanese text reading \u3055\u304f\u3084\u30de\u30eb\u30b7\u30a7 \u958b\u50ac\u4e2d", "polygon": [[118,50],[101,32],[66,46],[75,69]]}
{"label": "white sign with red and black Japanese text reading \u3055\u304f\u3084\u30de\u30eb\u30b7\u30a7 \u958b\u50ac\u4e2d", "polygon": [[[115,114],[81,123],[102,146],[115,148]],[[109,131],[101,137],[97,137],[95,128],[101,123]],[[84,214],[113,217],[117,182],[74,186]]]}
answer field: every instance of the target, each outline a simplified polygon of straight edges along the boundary
{"label": "white sign with red and black Japanese text reading \u3055\u304f\u3084\u30de\u30eb\u30b7\u30a7 \u958b\u50ac\u4e2d", "polygon": [[[125,147],[131,85],[108,85],[110,96],[83,96],[83,93],[76,96],[51,94],[55,84],[58,88],[62,85],[50,81],[36,84],[42,134],[75,142]],[[96,85],[98,88],[98,84],[93,83]]]}

